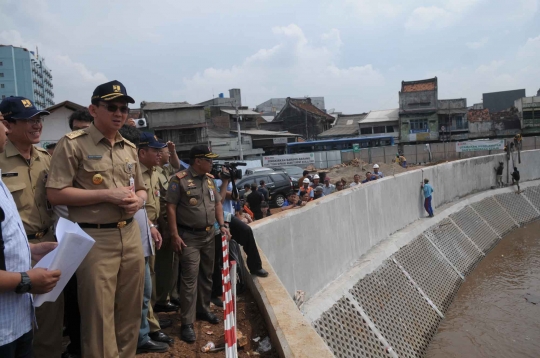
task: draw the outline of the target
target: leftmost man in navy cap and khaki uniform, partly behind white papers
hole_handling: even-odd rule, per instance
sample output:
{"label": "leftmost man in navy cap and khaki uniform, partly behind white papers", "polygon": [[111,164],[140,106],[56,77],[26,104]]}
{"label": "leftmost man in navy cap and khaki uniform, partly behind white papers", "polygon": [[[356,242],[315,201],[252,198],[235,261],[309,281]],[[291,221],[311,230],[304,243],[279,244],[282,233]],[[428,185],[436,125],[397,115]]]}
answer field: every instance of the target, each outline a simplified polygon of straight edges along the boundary
{"label": "leftmost man in navy cap and khaki uniform, partly behind white papers", "polygon": [[[43,129],[42,116],[49,112],[38,110],[23,97],[4,99],[0,103],[0,112],[10,131],[6,150],[0,154],[2,180],[17,204],[28,241],[33,244],[56,241],[51,228],[52,208],[45,192],[51,156],[45,149],[34,145],[39,143]],[[56,302],[47,302],[36,308],[35,357],[60,357],[63,319],[63,294]]]}

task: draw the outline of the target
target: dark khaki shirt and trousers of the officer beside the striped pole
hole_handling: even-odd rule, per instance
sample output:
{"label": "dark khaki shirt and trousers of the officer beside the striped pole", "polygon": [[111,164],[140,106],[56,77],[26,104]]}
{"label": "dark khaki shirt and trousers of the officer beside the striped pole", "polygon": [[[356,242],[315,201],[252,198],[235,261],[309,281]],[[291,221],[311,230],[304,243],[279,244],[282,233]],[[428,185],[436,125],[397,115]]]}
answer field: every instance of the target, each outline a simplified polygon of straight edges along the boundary
{"label": "dark khaki shirt and trousers of the officer beside the striped pole", "polygon": [[[207,157],[217,156],[208,153]],[[182,326],[193,324],[196,313],[210,312],[215,205],[221,201],[212,179],[212,175],[198,175],[189,167],[170,179],[167,190],[167,203],[177,205],[178,234],[187,245],[180,254]]]}

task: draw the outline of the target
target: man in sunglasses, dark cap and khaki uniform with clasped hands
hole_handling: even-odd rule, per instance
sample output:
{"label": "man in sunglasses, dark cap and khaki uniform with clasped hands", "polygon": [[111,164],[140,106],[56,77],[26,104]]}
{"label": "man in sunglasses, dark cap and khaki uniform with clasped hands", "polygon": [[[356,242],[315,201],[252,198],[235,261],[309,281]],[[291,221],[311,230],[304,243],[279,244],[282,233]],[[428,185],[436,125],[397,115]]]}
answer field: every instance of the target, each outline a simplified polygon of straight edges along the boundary
{"label": "man in sunglasses, dark cap and khaki uniform with clasped hands", "polygon": [[82,355],[127,358],[137,348],[144,280],[133,215],[147,195],[135,145],[118,130],[135,101],[118,81],[98,86],[91,101],[94,123],[56,146],[47,196],[96,240],[77,270]]}

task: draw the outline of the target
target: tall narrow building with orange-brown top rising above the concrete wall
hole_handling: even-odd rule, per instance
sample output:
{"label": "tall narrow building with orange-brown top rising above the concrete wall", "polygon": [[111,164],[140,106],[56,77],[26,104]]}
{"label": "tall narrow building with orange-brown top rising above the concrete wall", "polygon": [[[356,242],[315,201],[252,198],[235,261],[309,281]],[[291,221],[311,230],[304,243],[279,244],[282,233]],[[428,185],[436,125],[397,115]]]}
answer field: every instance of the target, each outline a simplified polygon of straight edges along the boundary
{"label": "tall narrow building with orange-brown top rising above the concrete wall", "polygon": [[402,81],[399,92],[400,143],[439,139],[437,77]]}

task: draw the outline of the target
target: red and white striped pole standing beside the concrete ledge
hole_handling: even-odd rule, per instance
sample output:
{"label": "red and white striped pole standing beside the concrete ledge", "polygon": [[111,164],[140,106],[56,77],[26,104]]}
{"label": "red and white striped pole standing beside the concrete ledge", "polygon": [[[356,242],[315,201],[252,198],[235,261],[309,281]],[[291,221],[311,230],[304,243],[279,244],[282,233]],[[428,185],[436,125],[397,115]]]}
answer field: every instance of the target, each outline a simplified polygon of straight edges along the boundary
{"label": "red and white striped pole standing beside the concrete ledge", "polygon": [[225,324],[225,357],[237,358],[236,347],[236,312],[235,301],[231,287],[231,272],[229,270],[229,242],[227,236],[221,236],[223,249],[223,269],[221,270],[221,282],[223,285],[223,323]]}

